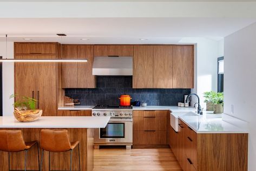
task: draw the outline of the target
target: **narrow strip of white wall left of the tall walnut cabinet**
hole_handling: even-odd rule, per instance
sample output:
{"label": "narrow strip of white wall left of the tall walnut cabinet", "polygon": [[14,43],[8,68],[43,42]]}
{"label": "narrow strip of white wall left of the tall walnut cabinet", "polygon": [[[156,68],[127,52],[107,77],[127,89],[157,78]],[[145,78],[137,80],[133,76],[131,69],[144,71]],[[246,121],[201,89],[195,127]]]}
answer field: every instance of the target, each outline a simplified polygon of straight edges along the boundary
{"label": "narrow strip of white wall left of the tall walnut cabinet", "polygon": [[[7,58],[14,58],[14,43],[7,44]],[[0,42],[0,56],[6,58],[5,42]],[[14,94],[14,63],[3,63],[3,115],[12,115],[14,99],[9,96]]]}

